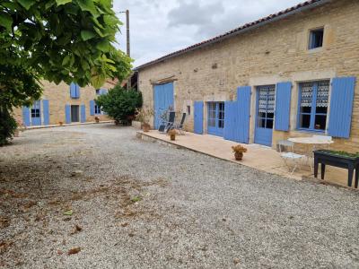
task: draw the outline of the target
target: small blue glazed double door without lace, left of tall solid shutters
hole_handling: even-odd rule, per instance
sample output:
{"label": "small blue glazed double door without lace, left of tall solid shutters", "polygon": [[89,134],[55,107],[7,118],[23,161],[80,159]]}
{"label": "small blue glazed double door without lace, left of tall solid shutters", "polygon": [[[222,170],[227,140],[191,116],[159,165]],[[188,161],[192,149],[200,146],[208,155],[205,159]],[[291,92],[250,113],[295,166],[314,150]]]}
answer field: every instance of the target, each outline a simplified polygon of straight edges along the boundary
{"label": "small blue glazed double door without lace, left of tall solid shutters", "polygon": [[207,132],[223,136],[224,128],[224,102],[208,102]]}

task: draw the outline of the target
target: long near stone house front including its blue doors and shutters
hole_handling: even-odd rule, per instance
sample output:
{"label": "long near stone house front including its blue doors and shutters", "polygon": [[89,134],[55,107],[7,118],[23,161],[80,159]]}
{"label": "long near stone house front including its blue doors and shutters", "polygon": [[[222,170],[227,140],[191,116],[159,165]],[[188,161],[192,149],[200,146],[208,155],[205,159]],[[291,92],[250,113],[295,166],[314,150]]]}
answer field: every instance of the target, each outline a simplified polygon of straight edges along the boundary
{"label": "long near stone house front including its blue doors and shutters", "polygon": [[136,67],[144,106],[188,131],[276,147],[312,134],[359,152],[359,1],[311,0]]}

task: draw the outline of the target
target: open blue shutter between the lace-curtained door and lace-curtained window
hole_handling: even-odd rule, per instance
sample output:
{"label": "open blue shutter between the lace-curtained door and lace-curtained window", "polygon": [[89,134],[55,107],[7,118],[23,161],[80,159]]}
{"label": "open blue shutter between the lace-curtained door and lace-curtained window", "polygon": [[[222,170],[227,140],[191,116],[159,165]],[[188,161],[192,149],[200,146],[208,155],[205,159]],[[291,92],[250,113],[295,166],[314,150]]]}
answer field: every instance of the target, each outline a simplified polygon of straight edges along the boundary
{"label": "open blue shutter between the lace-curtained door and lace-curtained window", "polygon": [[276,84],[275,128],[277,131],[289,131],[291,114],[292,82]]}

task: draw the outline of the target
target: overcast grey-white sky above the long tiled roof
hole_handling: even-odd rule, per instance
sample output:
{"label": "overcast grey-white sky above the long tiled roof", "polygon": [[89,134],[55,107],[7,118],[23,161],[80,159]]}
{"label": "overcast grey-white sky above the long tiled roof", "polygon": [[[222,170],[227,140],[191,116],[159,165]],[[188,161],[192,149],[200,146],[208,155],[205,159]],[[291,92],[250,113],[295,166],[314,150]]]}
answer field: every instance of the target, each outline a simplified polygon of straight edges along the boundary
{"label": "overcast grey-white sky above the long tiled roof", "polygon": [[129,10],[131,57],[142,65],[225,31],[277,13],[304,0],[114,0],[124,25],[118,48],[126,51],[126,15]]}

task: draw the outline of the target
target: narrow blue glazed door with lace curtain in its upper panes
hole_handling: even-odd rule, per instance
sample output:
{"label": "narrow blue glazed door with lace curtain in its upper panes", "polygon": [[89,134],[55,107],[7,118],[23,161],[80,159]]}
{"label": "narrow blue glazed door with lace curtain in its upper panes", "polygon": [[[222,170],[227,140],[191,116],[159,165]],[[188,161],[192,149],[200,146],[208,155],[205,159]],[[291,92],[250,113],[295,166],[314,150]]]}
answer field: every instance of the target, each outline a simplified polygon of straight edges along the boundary
{"label": "narrow blue glazed door with lace curtain in its upper panes", "polygon": [[257,115],[254,143],[272,146],[276,85],[257,88]]}

